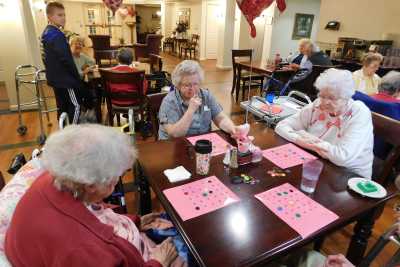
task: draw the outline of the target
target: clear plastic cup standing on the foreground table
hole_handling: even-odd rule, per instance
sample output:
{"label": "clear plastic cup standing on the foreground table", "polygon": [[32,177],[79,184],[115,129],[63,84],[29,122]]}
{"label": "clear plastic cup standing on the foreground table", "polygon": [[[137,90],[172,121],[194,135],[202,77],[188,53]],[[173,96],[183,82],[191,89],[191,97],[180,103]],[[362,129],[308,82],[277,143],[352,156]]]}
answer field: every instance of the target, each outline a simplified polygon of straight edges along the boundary
{"label": "clear plastic cup standing on the foreground table", "polygon": [[324,164],[319,160],[307,161],[303,164],[301,190],[309,194],[314,193],[323,167]]}

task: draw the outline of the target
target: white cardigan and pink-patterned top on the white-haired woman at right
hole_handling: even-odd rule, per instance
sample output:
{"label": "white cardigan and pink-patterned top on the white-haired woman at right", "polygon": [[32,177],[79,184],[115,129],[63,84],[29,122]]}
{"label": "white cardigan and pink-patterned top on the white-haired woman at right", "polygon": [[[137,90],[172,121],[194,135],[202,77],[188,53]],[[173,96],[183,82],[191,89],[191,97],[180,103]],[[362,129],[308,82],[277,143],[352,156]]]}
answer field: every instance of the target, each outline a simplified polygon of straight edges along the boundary
{"label": "white cardigan and pink-patterned top on the white-haired woman at right", "polygon": [[347,111],[331,117],[319,108],[319,99],[275,128],[283,138],[296,143],[299,131],[322,140],[318,146],[327,151],[321,156],[365,177],[372,176],[374,135],[370,110],[360,101],[349,100]]}

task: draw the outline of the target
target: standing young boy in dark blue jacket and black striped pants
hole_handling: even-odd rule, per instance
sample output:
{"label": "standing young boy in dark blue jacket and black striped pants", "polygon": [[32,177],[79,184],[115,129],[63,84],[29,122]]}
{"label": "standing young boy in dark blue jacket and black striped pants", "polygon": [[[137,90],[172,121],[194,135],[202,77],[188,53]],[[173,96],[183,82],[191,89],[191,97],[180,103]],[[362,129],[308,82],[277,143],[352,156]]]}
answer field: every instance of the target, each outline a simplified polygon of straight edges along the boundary
{"label": "standing young boy in dark blue jacket and black striped pants", "polygon": [[72,58],[71,50],[61,28],[65,25],[64,6],[50,2],[46,7],[49,24],[42,33],[43,62],[47,83],[53,87],[58,114],[68,113],[71,123],[78,123],[82,97],[81,79]]}

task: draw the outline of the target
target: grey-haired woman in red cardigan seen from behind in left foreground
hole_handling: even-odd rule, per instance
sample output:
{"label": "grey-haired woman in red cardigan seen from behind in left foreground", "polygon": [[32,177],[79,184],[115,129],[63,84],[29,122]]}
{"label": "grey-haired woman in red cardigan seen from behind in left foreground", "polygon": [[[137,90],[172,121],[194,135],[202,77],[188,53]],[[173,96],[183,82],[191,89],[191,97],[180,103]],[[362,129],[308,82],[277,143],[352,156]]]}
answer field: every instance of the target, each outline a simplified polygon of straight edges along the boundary
{"label": "grey-haired woman in red cardigan seen from behind in left foreground", "polygon": [[177,257],[171,240],[149,248],[139,234],[158,214],[128,217],[101,205],[136,157],[129,138],[110,127],[73,125],[52,134],[41,158],[45,171],[6,233],[12,266],[170,266]]}

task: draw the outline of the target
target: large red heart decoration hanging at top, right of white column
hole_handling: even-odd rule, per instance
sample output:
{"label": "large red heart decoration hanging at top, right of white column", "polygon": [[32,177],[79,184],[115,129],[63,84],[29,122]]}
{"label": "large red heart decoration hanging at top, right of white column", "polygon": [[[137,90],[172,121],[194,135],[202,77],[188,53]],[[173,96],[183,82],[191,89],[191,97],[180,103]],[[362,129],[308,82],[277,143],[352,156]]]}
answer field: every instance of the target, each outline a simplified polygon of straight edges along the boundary
{"label": "large red heart decoration hanging at top, right of white column", "polygon": [[286,9],[285,0],[236,0],[240,10],[250,24],[251,37],[256,37],[256,27],[253,24],[255,18],[261,15],[264,9],[269,7],[273,2],[276,2],[279,11],[283,12]]}

